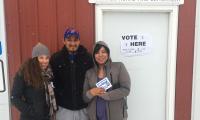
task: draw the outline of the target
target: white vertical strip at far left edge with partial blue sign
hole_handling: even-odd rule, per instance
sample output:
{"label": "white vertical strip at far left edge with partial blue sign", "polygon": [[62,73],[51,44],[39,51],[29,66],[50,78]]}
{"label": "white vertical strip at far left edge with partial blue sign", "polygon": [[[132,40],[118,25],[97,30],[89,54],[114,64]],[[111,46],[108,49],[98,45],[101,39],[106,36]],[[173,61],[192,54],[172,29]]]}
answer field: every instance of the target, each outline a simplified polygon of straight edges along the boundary
{"label": "white vertical strip at far left edge with partial blue sign", "polygon": [[4,3],[0,1],[0,116],[10,120]]}

